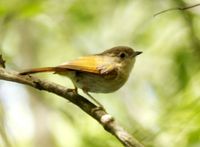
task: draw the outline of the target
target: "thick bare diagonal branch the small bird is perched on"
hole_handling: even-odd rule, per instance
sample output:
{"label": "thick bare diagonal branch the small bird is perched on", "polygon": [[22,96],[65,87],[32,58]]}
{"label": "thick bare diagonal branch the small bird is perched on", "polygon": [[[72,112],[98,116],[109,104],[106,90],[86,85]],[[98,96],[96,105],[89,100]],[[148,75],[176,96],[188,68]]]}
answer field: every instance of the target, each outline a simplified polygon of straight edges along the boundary
{"label": "thick bare diagonal branch the small bird is perched on", "polygon": [[[0,64],[4,63],[0,59]],[[132,137],[123,127],[121,127],[114,118],[108,114],[105,110],[99,109],[93,103],[88,101],[81,95],[69,92],[67,88],[58,85],[53,82],[40,80],[38,78],[26,75],[19,75],[18,72],[6,71],[3,64],[0,66],[0,79],[6,81],[12,81],[16,83],[21,83],[29,85],[38,90],[44,90],[56,95],[61,96],[64,99],[69,100],[79,108],[81,108],[88,115],[96,119],[106,131],[114,135],[124,146],[127,147],[143,147],[143,145]]]}

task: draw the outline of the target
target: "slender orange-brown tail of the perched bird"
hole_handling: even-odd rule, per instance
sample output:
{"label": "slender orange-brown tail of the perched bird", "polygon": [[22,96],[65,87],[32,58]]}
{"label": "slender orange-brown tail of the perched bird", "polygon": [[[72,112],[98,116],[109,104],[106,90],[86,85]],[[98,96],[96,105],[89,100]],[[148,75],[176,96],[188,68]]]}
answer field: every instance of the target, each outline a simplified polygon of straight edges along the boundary
{"label": "slender orange-brown tail of the perched bird", "polygon": [[59,69],[57,67],[41,67],[41,68],[33,68],[29,69],[23,72],[20,72],[20,75],[28,75],[28,74],[34,74],[39,72],[56,72]]}

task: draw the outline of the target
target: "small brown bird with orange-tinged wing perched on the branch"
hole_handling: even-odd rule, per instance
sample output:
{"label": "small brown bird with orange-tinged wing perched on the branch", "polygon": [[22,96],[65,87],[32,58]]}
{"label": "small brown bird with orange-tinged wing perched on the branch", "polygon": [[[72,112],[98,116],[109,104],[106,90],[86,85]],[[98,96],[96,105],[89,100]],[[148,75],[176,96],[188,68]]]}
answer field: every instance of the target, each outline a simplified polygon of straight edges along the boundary
{"label": "small brown bird with orange-tinged wing perched on the branch", "polygon": [[[21,72],[20,75],[55,72],[69,77],[74,84],[75,92],[77,88],[80,88],[95,100],[88,92],[110,93],[118,90],[127,81],[135,63],[135,57],[141,53],[130,47],[117,46],[55,67],[30,69]],[[97,103],[100,105],[99,102]]]}

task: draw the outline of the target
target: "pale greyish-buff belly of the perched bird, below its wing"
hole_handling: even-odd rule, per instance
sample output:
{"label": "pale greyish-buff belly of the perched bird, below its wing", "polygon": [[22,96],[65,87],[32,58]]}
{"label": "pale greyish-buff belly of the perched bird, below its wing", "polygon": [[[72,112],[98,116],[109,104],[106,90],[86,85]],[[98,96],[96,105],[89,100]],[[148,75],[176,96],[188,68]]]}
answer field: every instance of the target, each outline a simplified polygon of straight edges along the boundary
{"label": "pale greyish-buff belly of the perched bird, below its wing", "polygon": [[122,76],[112,77],[112,75],[102,76],[90,73],[79,73],[73,81],[78,88],[88,92],[110,93],[122,87],[126,79]]}

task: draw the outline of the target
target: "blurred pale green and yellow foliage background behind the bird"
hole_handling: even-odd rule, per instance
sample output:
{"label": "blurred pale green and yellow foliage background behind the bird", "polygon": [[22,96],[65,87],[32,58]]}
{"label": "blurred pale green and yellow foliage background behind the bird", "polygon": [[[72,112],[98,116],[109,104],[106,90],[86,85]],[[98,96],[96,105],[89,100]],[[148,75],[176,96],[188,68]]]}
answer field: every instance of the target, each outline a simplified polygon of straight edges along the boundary
{"label": "blurred pale green and yellow foliage background behind the bird", "polygon": [[[199,147],[200,7],[153,17],[196,3],[200,1],[1,0],[1,54],[7,69],[23,71],[117,45],[143,51],[120,90],[93,96],[148,147]],[[65,77],[35,76],[72,87]],[[70,102],[0,80],[0,146],[122,145]]]}

